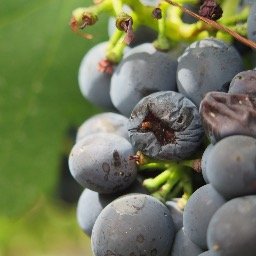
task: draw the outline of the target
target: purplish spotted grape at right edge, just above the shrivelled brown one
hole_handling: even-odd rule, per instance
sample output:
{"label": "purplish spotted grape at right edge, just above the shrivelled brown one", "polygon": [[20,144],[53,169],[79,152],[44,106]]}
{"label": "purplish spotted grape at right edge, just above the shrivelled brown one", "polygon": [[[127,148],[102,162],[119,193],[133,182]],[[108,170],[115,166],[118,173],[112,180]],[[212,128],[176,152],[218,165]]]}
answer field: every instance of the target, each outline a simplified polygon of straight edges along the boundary
{"label": "purplish spotted grape at right edge, just above the shrivelled brown one", "polygon": [[256,95],[256,70],[246,70],[238,73],[231,80],[228,93]]}

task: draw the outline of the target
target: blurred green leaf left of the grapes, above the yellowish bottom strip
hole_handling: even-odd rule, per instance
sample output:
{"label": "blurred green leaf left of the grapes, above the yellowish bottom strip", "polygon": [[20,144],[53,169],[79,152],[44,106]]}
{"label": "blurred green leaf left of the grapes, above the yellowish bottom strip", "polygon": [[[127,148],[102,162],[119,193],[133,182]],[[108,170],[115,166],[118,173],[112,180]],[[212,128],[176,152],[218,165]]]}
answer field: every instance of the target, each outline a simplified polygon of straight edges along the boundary
{"label": "blurred green leaf left of the grapes, above the yellowish bottom strip", "polygon": [[80,94],[77,72],[86,51],[107,39],[102,17],[94,39],[73,34],[73,9],[91,1],[0,2],[0,205],[19,216],[53,195],[64,137],[101,111]]}

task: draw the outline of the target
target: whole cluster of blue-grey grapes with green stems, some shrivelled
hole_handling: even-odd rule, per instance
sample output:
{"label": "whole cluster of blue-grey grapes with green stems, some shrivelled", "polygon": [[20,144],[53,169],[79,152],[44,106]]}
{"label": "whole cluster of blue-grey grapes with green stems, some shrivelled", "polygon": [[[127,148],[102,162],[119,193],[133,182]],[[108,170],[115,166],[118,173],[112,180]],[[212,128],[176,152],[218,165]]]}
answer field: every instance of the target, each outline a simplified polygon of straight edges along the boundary
{"label": "whole cluster of blue-grey grapes with green stems, some shrivelled", "polygon": [[[180,0],[175,12],[169,0],[102,0],[74,11],[76,30],[113,8],[110,40],[78,72],[82,95],[106,112],[81,124],[69,156],[84,188],[78,224],[95,256],[256,255],[256,68],[245,61],[253,50],[243,54],[234,31],[209,25],[222,15],[234,30],[246,24],[252,41],[241,42],[254,47],[256,4],[236,1],[242,14],[227,17],[227,1]],[[199,23],[183,15],[187,4]],[[149,11],[151,26],[139,16]],[[166,32],[171,11],[188,38]]]}

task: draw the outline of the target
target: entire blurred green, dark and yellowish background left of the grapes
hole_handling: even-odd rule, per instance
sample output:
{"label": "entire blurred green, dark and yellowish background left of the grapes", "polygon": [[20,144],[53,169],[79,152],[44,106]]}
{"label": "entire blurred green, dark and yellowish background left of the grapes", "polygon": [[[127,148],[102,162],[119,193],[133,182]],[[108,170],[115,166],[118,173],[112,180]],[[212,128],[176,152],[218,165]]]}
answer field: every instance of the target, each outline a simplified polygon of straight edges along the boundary
{"label": "entire blurred green, dark and yellowish background left of the grapes", "polygon": [[67,166],[76,128],[102,111],[80,94],[77,72],[107,39],[107,17],[90,41],[69,27],[72,10],[90,4],[0,1],[0,256],[92,255]]}

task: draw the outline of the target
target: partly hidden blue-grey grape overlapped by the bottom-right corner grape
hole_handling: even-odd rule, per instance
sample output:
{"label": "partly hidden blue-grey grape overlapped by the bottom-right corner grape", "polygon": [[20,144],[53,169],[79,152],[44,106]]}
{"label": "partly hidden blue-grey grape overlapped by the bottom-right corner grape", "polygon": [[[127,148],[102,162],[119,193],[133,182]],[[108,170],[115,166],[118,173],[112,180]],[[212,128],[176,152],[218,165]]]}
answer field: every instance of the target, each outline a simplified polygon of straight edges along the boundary
{"label": "partly hidden blue-grey grape overlapped by the bottom-right corner grape", "polygon": [[189,198],[183,214],[184,232],[201,249],[207,249],[206,234],[209,222],[225,202],[211,184],[200,187]]}

